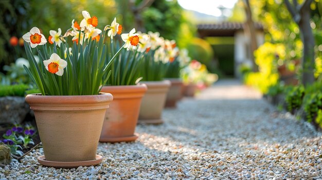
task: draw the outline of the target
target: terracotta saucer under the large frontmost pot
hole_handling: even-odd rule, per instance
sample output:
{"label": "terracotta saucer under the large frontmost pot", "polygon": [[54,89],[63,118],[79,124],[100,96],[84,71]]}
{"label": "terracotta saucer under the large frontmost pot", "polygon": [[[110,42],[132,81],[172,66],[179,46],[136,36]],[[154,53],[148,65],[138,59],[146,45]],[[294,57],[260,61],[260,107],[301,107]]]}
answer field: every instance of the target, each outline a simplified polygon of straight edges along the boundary
{"label": "terracotta saucer under the large frontmost pot", "polygon": [[53,167],[53,168],[77,168],[79,166],[96,166],[99,163],[102,162],[103,157],[101,155],[96,154],[94,160],[90,161],[77,161],[77,162],[57,162],[57,161],[46,161],[46,158],[44,155],[41,155],[37,157],[38,163],[47,166],[47,167]]}

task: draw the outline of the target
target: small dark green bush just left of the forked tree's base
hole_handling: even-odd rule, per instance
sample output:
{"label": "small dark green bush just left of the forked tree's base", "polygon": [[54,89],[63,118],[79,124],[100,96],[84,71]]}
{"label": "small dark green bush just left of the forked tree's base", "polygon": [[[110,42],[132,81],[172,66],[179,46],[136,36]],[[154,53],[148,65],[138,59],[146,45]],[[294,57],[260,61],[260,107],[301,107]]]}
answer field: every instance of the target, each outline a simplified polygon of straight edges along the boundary
{"label": "small dark green bush just left of the forked tree's base", "polygon": [[294,114],[302,105],[305,89],[300,85],[289,88],[286,92],[285,101],[287,103],[288,111]]}

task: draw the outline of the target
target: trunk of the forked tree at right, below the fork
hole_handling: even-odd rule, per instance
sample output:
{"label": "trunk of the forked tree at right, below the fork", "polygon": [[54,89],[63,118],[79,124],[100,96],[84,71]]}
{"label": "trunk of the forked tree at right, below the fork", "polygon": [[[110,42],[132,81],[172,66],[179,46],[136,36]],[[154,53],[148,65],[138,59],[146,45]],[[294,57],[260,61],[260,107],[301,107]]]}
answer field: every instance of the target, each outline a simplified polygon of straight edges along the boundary
{"label": "trunk of the forked tree at right, below the fork", "polygon": [[310,25],[310,9],[300,11],[301,20],[298,23],[303,42],[302,83],[304,86],[314,83],[314,36]]}

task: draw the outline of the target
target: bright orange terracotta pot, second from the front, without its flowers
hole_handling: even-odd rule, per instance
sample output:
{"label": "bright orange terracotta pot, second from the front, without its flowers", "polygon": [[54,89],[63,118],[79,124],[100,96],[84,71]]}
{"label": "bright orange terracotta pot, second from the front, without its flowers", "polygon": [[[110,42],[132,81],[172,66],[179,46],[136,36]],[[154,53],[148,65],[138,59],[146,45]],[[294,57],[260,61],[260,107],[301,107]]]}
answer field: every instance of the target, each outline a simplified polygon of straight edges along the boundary
{"label": "bright orange terracotta pot, second from the front, without its flowers", "polygon": [[130,142],[138,138],[134,131],[147,89],[145,84],[102,88],[101,92],[111,93],[114,99],[105,114],[100,142]]}

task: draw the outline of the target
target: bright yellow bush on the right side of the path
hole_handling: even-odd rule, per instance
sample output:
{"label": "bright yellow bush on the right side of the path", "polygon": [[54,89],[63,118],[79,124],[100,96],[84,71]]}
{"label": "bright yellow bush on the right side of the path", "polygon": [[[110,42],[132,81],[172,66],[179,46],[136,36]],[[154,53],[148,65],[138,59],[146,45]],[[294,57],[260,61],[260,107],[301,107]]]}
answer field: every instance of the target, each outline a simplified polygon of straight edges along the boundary
{"label": "bright yellow bush on the right side of the path", "polygon": [[254,53],[259,72],[250,72],[245,76],[245,83],[266,93],[270,86],[278,82],[277,61],[285,58],[282,44],[264,43]]}

